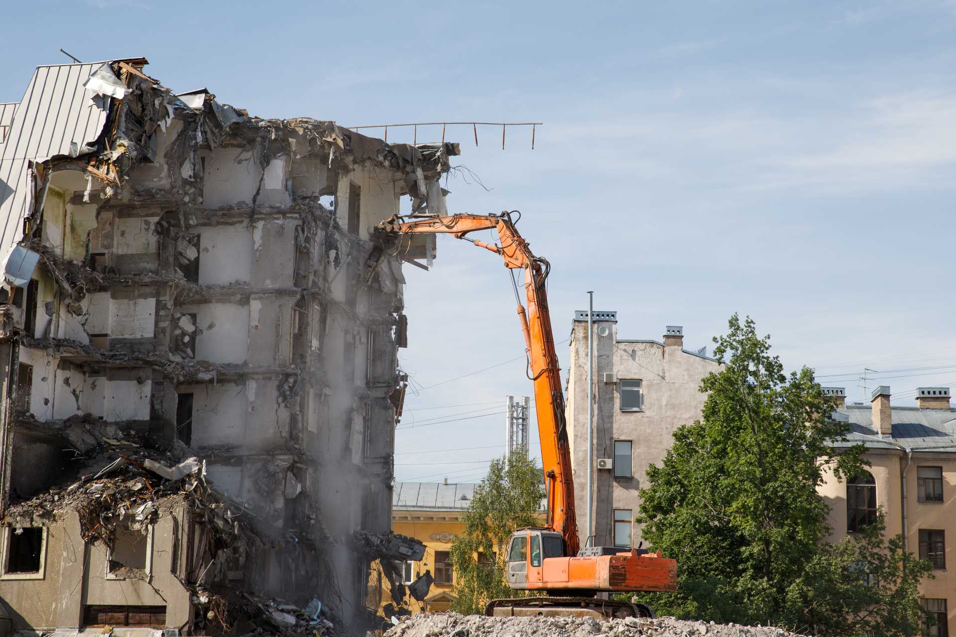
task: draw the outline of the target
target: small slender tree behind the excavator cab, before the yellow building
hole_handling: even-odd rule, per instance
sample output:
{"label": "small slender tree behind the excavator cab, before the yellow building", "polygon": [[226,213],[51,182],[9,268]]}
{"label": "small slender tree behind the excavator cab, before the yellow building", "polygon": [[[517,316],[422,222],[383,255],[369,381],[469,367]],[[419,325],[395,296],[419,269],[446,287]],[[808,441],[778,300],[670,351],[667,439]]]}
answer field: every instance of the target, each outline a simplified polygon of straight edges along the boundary
{"label": "small slender tree behind the excavator cab, before the yellow building", "polygon": [[483,613],[489,600],[520,596],[507,583],[505,551],[511,532],[539,523],[544,495],[541,468],[526,455],[491,461],[462,517],[465,530],[451,544],[452,610]]}

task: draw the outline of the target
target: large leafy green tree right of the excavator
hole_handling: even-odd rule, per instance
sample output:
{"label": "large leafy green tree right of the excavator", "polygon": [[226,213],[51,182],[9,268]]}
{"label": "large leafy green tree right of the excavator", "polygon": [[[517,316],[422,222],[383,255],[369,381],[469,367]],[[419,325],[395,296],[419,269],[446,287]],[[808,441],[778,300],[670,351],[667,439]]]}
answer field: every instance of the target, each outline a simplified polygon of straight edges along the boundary
{"label": "large leafy green tree right of the excavator", "polygon": [[[771,355],[770,337],[760,338],[750,318],[733,315],[728,333],[714,342],[724,367],[701,383],[703,417],[675,432],[662,465],[648,468],[641,489],[643,537],[675,558],[680,573],[677,593],[647,601],[679,617],[851,635],[838,616],[853,595],[865,596],[854,569],[866,562],[880,567],[880,590],[905,598],[907,607],[918,604],[922,566],[903,573],[899,540],[872,533],[865,541],[826,544],[829,508],[817,487],[827,470],[846,479],[868,463],[862,445],[836,452],[846,425],[827,417],[833,403],[813,371],[785,374]],[[868,561],[854,557],[864,553]],[[829,570],[808,579],[813,569]],[[839,595],[832,604],[821,602],[822,582],[843,583],[834,584],[831,592]],[[880,615],[868,617],[853,626],[875,628]]]}

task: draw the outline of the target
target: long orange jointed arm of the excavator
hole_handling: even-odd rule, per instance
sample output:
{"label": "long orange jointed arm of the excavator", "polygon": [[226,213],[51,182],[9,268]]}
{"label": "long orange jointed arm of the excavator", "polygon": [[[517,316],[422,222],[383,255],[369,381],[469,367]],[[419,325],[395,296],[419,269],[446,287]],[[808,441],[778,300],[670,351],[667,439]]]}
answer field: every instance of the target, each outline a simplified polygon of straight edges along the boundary
{"label": "long orange jointed arm of the excavator", "polygon": [[[450,234],[456,239],[464,239],[498,254],[504,260],[505,267],[524,270],[525,305],[522,305],[518,298],[516,284],[515,298],[534,383],[534,408],[538,435],[541,438],[541,464],[548,494],[547,525],[562,535],[567,555],[573,556],[578,549],[575,487],[571,472],[568,428],[564,416],[564,394],[561,392],[561,374],[554,350],[545,287],[551,265],[547,260],[534,256],[528,242],[515,228],[511,214],[507,211],[500,215],[457,214],[412,221],[391,217],[380,223],[378,228],[392,237],[412,233]],[[467,237],[470,232],[489,229],[497,231],[500,244],[487,244]]]}

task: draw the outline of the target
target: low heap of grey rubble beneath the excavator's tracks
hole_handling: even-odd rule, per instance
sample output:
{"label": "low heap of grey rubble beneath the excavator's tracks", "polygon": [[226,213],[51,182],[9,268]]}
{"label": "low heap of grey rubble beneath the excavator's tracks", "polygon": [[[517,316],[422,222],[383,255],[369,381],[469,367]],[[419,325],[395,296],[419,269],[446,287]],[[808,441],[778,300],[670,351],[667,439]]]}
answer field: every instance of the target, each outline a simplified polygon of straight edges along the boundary
{"label": "low heap of grey rubble beneath the excavator's tracks", "polygon": [[798,637],[773,626],[686,622],[672,617],[598,622],[593,618],[484,617],[458,613],[424,613],[404,618],[385,637]]}

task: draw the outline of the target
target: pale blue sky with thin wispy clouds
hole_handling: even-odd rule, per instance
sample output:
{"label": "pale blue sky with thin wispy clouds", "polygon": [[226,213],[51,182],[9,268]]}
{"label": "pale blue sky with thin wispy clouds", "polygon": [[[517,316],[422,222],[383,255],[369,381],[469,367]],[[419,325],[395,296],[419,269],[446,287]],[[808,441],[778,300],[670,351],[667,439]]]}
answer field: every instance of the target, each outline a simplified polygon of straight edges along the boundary
{"label": "pale blue sky with thin wispy clouds", "polygon": [[[622,338],[676,324],[709,347],[732,312],[750,314],[789,367],[851,400],[864,368],[899,404],[956,385],[951,0],[72,0],[3,19],[0,101],[62,47],[143,55],[165,86],[261,117],[545,122],[533,151],[527,131],[502,151],[500,130],[475,147],[449,129],[489,190],[447,188],[452,211],[523,212],[554,265],[557,340],[593,289]],[[481,478],[503,450],[504,395],[531,393],[506,271],[444,239],[432,271],[406,276],[401,358],[418,390],[396,477]]]}

